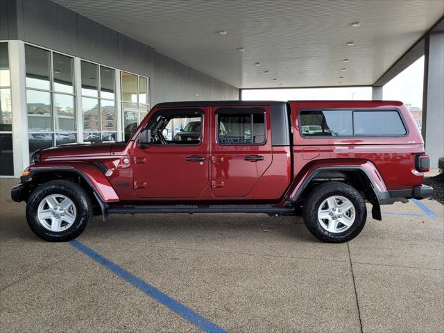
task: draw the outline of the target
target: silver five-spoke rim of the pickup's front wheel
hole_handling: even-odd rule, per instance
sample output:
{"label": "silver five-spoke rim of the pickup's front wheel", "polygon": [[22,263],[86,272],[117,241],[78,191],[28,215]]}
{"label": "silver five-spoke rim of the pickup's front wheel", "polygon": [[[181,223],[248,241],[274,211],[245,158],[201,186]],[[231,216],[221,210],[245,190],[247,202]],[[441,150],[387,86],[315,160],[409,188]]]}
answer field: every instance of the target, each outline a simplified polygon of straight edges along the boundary
{"label": "silver five-spoke rim of the pickup's front wheel", "polygon": [[40,224],[52,232],[67,230],[76,221],[76,216],[76,205],[62,194],[46,196],[37,208]]}

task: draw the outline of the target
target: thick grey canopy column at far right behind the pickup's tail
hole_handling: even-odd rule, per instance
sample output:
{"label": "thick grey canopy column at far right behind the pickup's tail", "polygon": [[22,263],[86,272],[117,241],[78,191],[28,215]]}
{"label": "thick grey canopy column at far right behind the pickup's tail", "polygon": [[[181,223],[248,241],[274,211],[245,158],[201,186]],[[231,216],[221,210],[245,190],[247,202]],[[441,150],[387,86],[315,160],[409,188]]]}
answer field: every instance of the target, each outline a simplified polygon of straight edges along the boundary
{"label": "thick grey canopy column at far right behind the pickup's tail", "polygon": [[426,36],[425,47],[422,137],[430,167],[436,169],[439,157],[444,157],[444,33]]}

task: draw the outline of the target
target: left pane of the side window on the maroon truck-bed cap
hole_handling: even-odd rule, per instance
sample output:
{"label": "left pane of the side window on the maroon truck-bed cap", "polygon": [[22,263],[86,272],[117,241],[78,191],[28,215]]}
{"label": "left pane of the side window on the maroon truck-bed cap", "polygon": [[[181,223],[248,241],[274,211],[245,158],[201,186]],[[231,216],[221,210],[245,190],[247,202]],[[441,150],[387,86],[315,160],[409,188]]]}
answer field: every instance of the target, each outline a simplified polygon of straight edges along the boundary
{"label": "left pane of the side window on the maroon truck-bed cap", "polygon": [[353,134],[352,111],[302,111],[300,128],[306,137],[338,137]]}

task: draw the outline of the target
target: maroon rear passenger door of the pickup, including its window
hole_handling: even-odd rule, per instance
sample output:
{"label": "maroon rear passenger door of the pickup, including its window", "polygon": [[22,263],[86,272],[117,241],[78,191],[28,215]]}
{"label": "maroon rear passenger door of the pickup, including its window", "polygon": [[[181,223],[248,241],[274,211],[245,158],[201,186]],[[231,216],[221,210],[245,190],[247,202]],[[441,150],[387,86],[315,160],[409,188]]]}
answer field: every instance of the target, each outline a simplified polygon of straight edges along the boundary
{"label": "maroon rear passenger door of the pickup, including its window", "polygon": [[268,106],[213,107],[212,194],[245,197],[271,165]]}

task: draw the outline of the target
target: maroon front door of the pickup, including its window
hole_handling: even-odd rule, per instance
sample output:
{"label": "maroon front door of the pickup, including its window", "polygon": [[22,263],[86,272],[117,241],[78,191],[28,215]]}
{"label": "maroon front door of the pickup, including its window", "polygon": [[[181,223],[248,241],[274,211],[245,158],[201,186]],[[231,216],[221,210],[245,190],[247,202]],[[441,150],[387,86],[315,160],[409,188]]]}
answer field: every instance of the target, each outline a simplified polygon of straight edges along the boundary
{"label": "maroon front door of the pickup, including its window", "polygon": [[164,109],[148,121],[151,144],[134,151],[135,194],[196,198],[209,181],[207,108]]}

